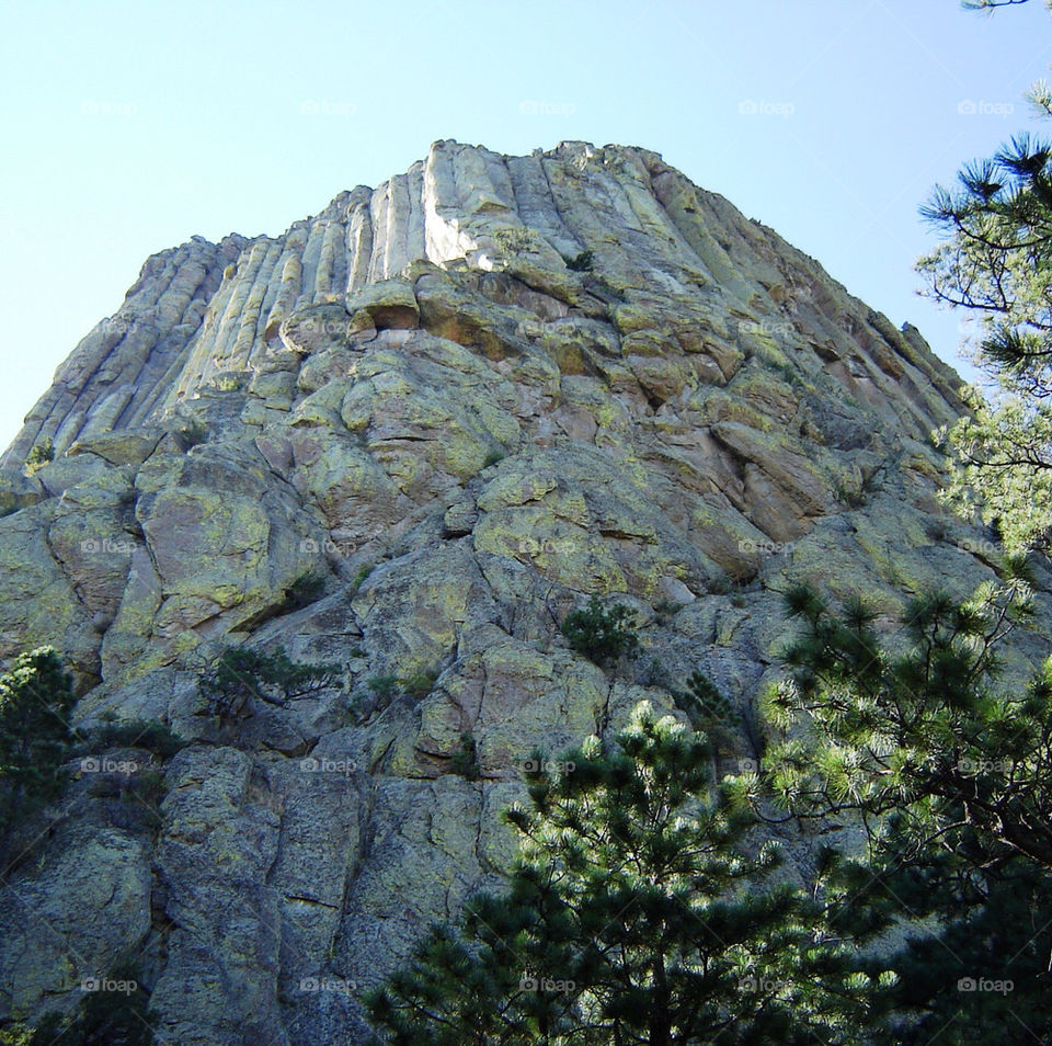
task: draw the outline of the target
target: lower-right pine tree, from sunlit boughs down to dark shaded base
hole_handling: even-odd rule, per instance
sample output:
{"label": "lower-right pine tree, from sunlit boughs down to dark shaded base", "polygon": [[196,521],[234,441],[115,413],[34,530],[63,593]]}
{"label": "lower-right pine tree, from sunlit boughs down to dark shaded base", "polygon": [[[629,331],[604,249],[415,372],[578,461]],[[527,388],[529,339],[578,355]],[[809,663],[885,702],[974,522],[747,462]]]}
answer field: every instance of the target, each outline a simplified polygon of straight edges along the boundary
{"label": "lower-right pine tree, from sunlit boughs down to dark shaded base", "polygon": [[[868,860],[841,860],[831,876],[851,920],[864,909],[874,928],[930,918],[889,960],[888,1042],[1045,1041],[1052,662],[1009,687],[997,655],[1029,616],[1026,581],[965,603],[917,599],[891,640],[859,600],[834,613],[799,587],[787,605],[803,627],[785,651],[791,678],[766,702],[786,736],[768,749],[765,783],[800,818],[860,818]],[[763,800],[755,777],[733,786]]]}

